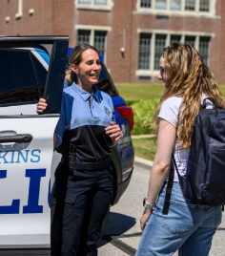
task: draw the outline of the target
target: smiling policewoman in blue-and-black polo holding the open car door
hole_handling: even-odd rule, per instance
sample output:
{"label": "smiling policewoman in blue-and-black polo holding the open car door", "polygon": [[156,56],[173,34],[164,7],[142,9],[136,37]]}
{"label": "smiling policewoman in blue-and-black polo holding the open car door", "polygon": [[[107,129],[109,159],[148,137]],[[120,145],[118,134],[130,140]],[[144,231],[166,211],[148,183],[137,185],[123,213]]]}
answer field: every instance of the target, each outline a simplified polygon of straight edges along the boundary
{"label": "smiling policewoman in blue-and-black polo holding the open car door", "polygon": [[[111,96],[95,86],[101,71],[97,50],[90,45],[77,46],[69,63],[69,87],[63,92],[54,133],[54,148],[62,154],[55,170],[55,256],[95,256],[113,194],[110,147],[122,133],[115,124]],[[46,107],[41,98],[37,112]]]}

